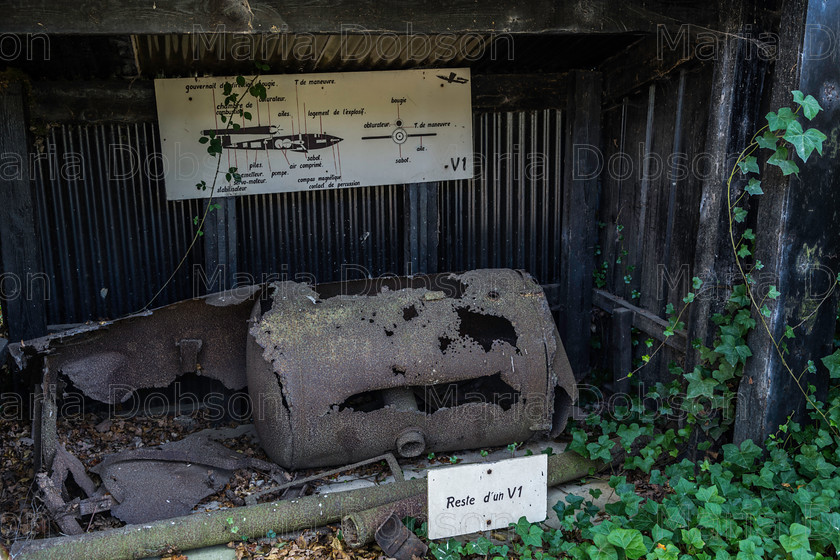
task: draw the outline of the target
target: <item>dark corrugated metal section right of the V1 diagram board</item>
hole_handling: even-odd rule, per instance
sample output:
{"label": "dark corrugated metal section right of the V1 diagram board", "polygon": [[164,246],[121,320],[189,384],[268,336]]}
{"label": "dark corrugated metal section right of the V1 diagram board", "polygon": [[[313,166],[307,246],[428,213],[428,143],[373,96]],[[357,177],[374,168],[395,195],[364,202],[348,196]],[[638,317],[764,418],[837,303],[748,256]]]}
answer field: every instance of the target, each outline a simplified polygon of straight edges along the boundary
{"label": "dark corrugated metal section right of the V1 diagram board", "polygon": [[479,114],[473,131],[475,178],[440,189],[441,270],[522,268],[559,282],[562,112]]}

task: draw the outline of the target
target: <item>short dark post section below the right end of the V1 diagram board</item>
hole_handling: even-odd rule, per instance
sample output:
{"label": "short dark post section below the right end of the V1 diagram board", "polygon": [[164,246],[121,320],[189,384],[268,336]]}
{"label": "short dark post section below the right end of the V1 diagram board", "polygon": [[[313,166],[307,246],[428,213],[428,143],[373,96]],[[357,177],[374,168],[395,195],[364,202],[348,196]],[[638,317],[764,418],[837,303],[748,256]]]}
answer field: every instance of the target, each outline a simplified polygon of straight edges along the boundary
{"label": "short dark post section below the right end of the V1 diagram board", "polygon": [[437,272],[438,184],[411,183],[406,185],[404,197],[406,273]]}

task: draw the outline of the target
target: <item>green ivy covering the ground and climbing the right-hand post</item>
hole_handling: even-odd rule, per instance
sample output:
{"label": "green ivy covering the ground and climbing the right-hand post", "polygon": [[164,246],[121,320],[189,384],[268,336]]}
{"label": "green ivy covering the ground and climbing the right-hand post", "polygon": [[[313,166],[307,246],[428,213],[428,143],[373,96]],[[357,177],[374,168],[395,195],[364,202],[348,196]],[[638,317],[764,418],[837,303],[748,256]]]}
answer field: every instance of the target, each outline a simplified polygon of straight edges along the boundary
{"label": "green ivy covering the ground and climbing the right-hand post", "polygon": [[[768,153],[765,165],[778,167],[785,176],[798,174],[814,152],[822,155],[826,136],[807,124],[821,110],[819,103],[799,91],[793,92],[793,103],[767,114],[767,125],[738,155],[724,186],[740,282],[731,288],[723,310],[709,318],[716,326],[713,344],[693,341],[699,363],[691,371],[672,364],[670,383],[656,383],[644,397],[631,396],[611,414],[592,414],[571,430],[570,450],[610,462],[623,448],[625,469],[646,473],[648,484],[661,488],[664,497],[644,498],[627,476],[613,476],[610,487],[617,500],[606,506],[603,518],[593,503],[600,491],[589,490],[588,496],[570,495],[554,507],[559,529],[521,519],[511,526],[509,542],[431,543],[435,558],[812,560],[840,553],[840,349],[820,360],[831,380],[826,402],[820,402],[807,377],[817,372],[815,361],[803,371],[794,371],[787,361],[787,342],[809,317],[786,326],[780,337],[772,336],[768,318],[780,293],[776,286],[760,288],[756,273],[764,265],[753,255],[755,232],[741,231],[747,202],[764,194],[762,151]],[[736,179],[746,181],[740,193],[734,189]],[[596,283],[606,268],[596,271]],[[687,309],[706,289],[711,287],[694,278],[681,308],[668,306],[663,338],[685,328]],[[800,425],[789,417],[763,448],[749,440],[740,446],[724,443],[734,421],[738,384],[752,356],[748,335],[755,329],[771,338],[785,371],[805,395],[812,420]],[[646,346],[650,351],[640,367],[664,342],[654,348],[649,340]],[[692,441],[708,451],[705,458],[677,462],[692,434],[703,435]],[[718,451],[710,451],[713,444]]]}

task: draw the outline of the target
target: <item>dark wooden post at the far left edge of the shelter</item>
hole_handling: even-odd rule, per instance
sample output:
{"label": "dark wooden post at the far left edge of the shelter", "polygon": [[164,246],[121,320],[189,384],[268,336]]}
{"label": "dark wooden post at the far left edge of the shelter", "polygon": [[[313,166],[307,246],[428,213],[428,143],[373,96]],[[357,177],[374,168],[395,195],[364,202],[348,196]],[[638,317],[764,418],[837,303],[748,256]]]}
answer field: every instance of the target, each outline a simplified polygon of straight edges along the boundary
{"label": "dark wooden post at the far left edge of the shelter", "polygon": [[0,84],[0,294],[14,342],[47,332],[47,282],[29,178],[24,108],[22,84]]}

